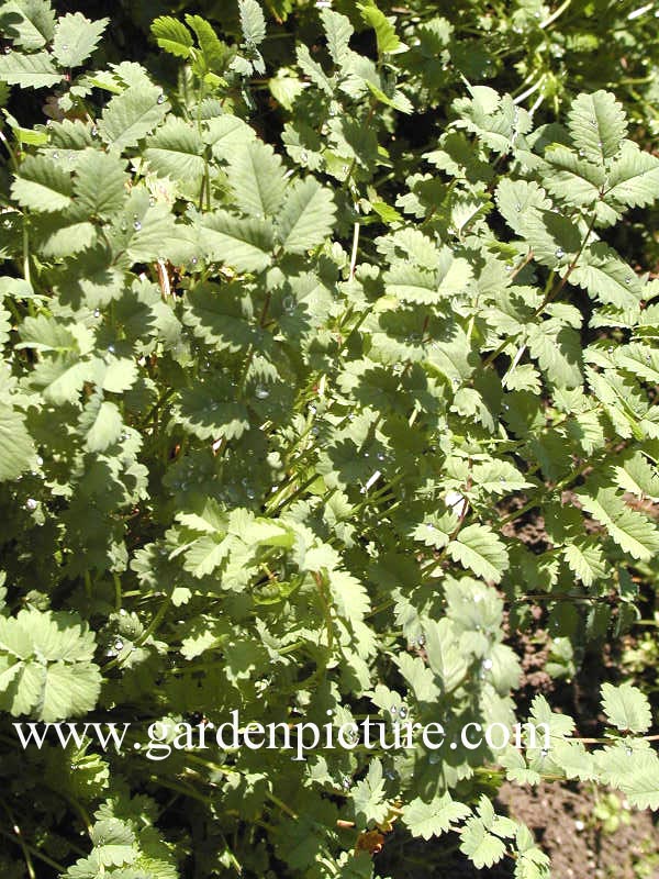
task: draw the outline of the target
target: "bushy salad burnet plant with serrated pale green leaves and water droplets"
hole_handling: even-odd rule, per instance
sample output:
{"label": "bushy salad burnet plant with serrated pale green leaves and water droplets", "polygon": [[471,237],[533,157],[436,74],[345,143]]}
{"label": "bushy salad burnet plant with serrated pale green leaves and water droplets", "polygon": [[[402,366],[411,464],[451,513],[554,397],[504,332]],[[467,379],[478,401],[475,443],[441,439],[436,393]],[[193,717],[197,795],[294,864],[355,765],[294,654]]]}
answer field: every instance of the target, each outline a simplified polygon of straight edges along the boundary
{"label": "bushy salad burnet plant with serrated pale green leaves and water droplets", "polygon": [[[659,159],[614,94],[537,127],[466,82],[433,148],[396,154],[411,49],[366,3],[377,57],[357,54],[323,9],[326,47],[278,74],[273,148],[250,121],[265,19],[238,11],[232,45],[155,21],[165,85],[89,66],[104,20],[2,7],[2,875],[402,876],[402,847],[381,866],[396,838],[450,834],[478,868],[547,877],[496,786],[659,808],[624,680],[594,742],[536,696],[549,748],[133,748],[233,710],[440,720],[457,743],[525,721],[504,609],[533,635],[546,608],[571,674],[635,619],[659,550],[628,503],[659,498],[659,286],[606,243],[659,194]],[[18,118],[32,89],[47,122]],[[115,754],[24,752],[12,725],[76,719],[139,726]]]}

